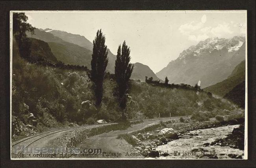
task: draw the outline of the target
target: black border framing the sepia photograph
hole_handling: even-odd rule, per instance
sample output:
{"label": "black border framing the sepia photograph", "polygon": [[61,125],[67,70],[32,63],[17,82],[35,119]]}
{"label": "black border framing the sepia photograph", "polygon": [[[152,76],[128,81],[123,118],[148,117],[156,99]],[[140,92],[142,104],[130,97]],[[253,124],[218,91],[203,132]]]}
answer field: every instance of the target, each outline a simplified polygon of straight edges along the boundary
{"label": "black border framing the sepia photograph", "polygon": [[[256,167],[255,0],[0,1],[1,167]],[[247,10],[248,160],[10,160],[9,11],[11,10]]]}

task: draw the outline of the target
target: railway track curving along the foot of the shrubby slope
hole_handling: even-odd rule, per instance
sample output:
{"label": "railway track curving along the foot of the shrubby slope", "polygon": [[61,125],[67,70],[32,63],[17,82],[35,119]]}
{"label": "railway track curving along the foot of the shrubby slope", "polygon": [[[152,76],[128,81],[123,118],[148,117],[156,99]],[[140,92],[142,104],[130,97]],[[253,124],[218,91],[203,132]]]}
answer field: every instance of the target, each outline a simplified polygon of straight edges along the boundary
{"label": "railway track curving along the foot of the shrubby slope", "polygon": [[[185,117],[185,116],[183,116]],[[164,117],[164,118],[157,118],[157,119],[175,119],[177,117]],[[148,121],[148,120],[156,120],[156,119],[144,119],[143,121]],[[140,121],[140,120],[131,120],[130,122],[134,122],[134,121]],[[87,126],[75,126],[75,127],[71,127],[71,128],[61,128],[58,130],[52,130],[52,131],[47,131],[44,133],[39,133],[37,135],[33,135],[30,137],[26,137],[24,139],[21,139],[19,141],[13,142],[11,144],[11,158],[20,158],[20,157],[26,157],[30,152],[29,150],[31,150],[33,147],[33,144],[43,138],[46,138],[50,135],[56,134],[56,133],[61,133],[61,132],[65,132],[65,131],[69,131],[69,130],[74,130],[77,128],[91,128],[94,126],[102,126],[102,125],[110,125],[110,124],[117,124],[116,122],[112,122],[112,123],[106,123],[106,124],[93,124],[93,125],[87,125]],[[26,151],[28,150],[28,151]]]}

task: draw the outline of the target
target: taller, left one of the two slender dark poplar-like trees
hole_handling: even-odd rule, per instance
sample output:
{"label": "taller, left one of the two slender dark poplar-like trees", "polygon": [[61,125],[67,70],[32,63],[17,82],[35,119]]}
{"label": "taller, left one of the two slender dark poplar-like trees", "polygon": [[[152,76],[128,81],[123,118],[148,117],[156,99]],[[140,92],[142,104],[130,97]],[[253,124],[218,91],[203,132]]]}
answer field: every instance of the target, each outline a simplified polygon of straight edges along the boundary
{"label": "taller, left one of the two slender dark poplar-like trees", "polygon": [[103,95],[103,80],[108,65],[108,51],[105,36],[101,29],[97,31],[93,40],[93,54],[91,60],[91,80],[94,82],[95,106],[100,108]]}

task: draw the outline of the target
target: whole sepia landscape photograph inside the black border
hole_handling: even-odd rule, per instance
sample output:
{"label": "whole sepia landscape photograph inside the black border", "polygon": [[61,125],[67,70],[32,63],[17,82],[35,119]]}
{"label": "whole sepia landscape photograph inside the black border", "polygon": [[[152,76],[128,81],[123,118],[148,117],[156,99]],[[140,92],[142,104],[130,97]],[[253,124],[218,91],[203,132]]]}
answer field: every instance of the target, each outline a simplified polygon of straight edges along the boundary
{"label": "whole sepia landscape photograph inside the black border", "polygon": [[248,159],[247,10],[9,15],[11,160]]}

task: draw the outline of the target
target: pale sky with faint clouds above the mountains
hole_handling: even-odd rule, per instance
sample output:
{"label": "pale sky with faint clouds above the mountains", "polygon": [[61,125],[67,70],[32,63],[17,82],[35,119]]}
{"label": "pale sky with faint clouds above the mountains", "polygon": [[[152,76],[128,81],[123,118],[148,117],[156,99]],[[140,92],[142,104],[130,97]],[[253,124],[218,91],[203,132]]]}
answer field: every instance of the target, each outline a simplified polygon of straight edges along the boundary
{"label": "pale sky with faint clouds above the mountains", "polygon": [[245,35],[246,11],[25,11],[28,22],[41,29],[82,35],[91,42],[98,29],[106,45],[117,54],[125,40],[131,62],[155,73],[188,47],[211,37]]}

